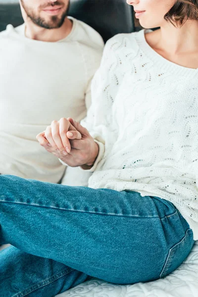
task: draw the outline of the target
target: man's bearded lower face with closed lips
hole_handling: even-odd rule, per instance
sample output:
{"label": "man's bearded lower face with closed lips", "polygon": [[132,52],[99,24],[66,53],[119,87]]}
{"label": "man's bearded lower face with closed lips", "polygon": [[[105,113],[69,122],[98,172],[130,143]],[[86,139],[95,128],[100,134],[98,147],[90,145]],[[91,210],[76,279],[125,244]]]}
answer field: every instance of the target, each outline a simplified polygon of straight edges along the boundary
{"label": "man's bearded lower face with closed lips", "polygon": [[69,9],[69,0],[20,0],[22,9],[34,24],[46,28],[60,28]]}

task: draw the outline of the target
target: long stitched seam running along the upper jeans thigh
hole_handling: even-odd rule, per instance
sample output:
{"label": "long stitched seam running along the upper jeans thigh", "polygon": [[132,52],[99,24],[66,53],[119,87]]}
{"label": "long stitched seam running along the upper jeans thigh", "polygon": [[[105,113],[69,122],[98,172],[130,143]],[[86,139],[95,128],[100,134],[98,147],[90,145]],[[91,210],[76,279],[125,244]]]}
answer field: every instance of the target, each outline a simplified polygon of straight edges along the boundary
{"label": "long stitched seam running along the upper jeans thigh", "polygon": [[15,204],[23,204],[27,206],[35,206],[35,207],[44,207],[44,208],[51,208],[51,209],[58,209],[58,210],[64,210],[64,211],[76,211],[76,212],[84,212],[84,213],[96,213],[96,214],[103,214],[103,215],[114,215],[114,216],[123,216],[123,217],[133,217],[133,218],[142,218],[142,219],[147,219],[147,218],[157,218],[160,219],[159,216],[138,216],[138,215],[127,215],[127,214],[122,214],[122,213],[108,213],[108,212],[99,212],[99,211],[87,211],[87,210],[78,210],[78,209],[66,209],[66,208],[61,208],[61,207],[55,207],[55,206],[46,206],[46,205],[39,205],[39,204],[29,204],[26,202],[21,202],[21,201],[6,201],[6,200],[0,200],[0,202],[5,202],[5,203],[15,203]]}

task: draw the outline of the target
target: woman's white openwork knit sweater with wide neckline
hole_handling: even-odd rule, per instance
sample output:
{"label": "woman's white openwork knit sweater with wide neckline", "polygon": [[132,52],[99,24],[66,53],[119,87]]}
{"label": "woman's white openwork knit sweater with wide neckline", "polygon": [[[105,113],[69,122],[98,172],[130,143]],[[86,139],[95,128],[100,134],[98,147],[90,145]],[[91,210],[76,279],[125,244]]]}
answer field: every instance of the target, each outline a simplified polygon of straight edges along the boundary
{"label": "woman's white openwork knit sweater with wide neckline", "polygon": [[148,31],[105,46],[81,121],[99,143],[89,187],[167,199],[198,240],[198,69],[160,56]]}

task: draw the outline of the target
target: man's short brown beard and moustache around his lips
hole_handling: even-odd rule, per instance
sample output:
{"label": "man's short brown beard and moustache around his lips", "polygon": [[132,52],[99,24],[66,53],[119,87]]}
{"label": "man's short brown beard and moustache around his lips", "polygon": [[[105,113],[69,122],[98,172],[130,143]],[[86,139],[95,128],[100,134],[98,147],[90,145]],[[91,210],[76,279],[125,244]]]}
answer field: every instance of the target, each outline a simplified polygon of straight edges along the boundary
{"label": "man's short brown beard and moustache around his lips", "polygon": [[[53,7],[54,5],[61,5],[63,4],[61,1],[55,1],[53,3],[47,3],[44,7],[40,7],[40,9],[44,9],[45,7]],[[27,16],[32,20],[32,22],[39,27],[45,28],[45,29],[56,29],[60,28],[62,24],[64,23],[65,17],[67,16],[67,12],[69,10],[69,4],[70,1],[68,1],[67,7],[63,11],[61,16],[52,15],[50,16],[48,20],[46,20],[44,17],[41,17],[39,15],[39,12],[34,11],[33,8],[28,7],[24,4],[23,0],[21,0],[21,5],[23,9],[25,10]]]}

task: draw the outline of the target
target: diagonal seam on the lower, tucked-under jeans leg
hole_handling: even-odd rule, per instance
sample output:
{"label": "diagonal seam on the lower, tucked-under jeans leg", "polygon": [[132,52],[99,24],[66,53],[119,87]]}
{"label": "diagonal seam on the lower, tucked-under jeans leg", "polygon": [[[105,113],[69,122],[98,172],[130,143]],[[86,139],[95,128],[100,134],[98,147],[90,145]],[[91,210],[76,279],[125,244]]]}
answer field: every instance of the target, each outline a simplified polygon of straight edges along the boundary
{"label": "diagonal seam on the lower, tucked-under jeans leg", "polygon": [[64,270],[56,273],[55,275],[50,276],[46,280],[43,280],[43,281],[39,282],[38,284],[29,287],[28,289],[25,289],[24,291],[18,292],[17,294],[13,295],[12,297],[24,297],[27,294],[30,294],[30,293],[32,293],[32,292],[34,292],[34,291],[36,291],[36,290],[38,290],[38,289],[40,289],[42,287],[45,287],[45,286],[49,285],[50,283],[56,281],[57,279],[63,277],[64,275],[70,273],[73,270],[75,270],[75,269],[73,269],[73,268],[71,268],[71,269],[67,268],[66,270],[64,269]]}

